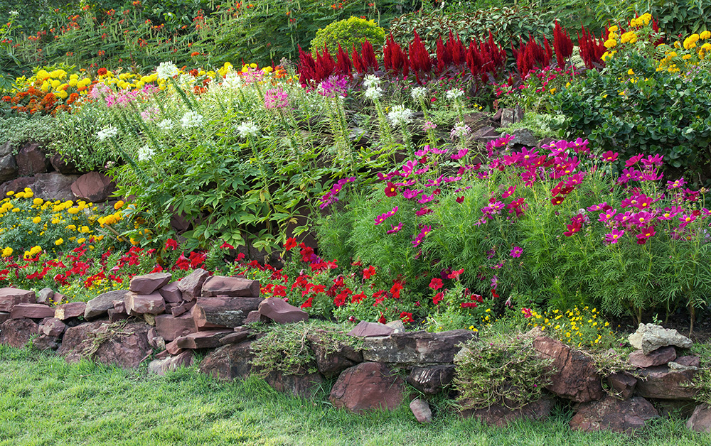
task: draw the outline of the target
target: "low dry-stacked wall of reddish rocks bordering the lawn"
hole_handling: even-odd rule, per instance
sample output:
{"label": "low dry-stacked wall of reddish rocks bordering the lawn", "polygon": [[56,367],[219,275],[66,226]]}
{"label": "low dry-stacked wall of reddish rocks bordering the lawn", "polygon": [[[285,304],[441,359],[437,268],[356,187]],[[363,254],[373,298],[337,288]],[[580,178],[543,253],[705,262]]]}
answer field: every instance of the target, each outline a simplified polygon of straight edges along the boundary
{"label": "low dry-stacked wall of reddish rocks bordering the lawn", "polygon": [[[314,352],[316,371],[284,374],[252,364],[252,342],[264,333],[252,332],[248,324],[289,324],[309,316],[278,298],[261,298],[257,281],[210,276],[202,269],[181,281],[172,281],[170,273],[151,273],[132,278],[128,290],[87,303],[60,304],[63,298],[48,288],[39,293],[1,288],[0,343],[32,342],[33,348],[56,349],[67,361],[88,358],[126,368],[150,360],[149,370],[157,374],[193,364],[194,352],[201,351],[200,370],[217,379],[260,373],[277,391],[304,398],[335,379],[329,394],[333,406],[364,413],[409,402],[421,423],[432,420],[429,396],[457,398],[454,363],[461,344],[476,336],[470,330],[410,332],[399,321],[360,322],[348,335],[363,339],[363,349],[346,344],[334,349],[328,333],[315,330],[304,342]],[[711,408],[698,405],[688,386],[700,371],[700,359],[684,353],[690,339],[641,325],[630,342],[636,351],[626,360],[635,370],[601,376],[589,354],[538,332],[532,348],[551,361],[545,397],[515,410],[502,402],[459,413],[506,426],[520,418],[544,420],[555,403],[567,401],[574,403],[570,427],[577,430],[627,432],[675,411],[688,413],[690,429],[711,432]]]}

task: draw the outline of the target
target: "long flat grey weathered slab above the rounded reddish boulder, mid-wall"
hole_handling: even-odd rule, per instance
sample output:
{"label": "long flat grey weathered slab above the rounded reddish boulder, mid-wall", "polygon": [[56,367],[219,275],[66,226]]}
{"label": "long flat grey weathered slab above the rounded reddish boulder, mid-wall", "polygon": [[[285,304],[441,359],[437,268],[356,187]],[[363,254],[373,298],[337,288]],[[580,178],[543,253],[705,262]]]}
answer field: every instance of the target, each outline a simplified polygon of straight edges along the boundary
{"label": "long flat grey weathered slab above the rounded reddish boulder, mid-wall", "polygon": [[366,337],[365,361],[397,365],[449,364],[459,352],[459,344],[474,337],[471,330],[396,333],[389,337]]}

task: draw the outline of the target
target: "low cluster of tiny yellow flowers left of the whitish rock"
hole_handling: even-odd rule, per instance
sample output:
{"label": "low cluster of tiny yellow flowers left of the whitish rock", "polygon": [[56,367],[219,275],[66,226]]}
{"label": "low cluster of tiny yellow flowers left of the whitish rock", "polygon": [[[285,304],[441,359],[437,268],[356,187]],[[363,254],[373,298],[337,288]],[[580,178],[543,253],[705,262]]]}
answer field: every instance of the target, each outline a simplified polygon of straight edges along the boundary
{"label": "low cluster of tiny yellow flowers left of the whitish rock", "polygon": [[[550,337],[577,347],[609,347],[614,341],[610,323],[600,317],[597,308],[578,307],[538,313],[531,310],[528,325],[540,327]],[[602,345],[601,345],[602,344]]]}

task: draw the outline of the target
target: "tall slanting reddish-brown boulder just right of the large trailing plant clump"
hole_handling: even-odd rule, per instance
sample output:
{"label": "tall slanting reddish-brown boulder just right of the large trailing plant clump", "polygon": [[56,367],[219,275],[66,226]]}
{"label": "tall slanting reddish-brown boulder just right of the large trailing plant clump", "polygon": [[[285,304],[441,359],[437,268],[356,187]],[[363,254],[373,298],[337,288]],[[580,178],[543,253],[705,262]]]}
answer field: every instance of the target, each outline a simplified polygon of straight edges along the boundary
{"label": "tall slanting reddish-brown boulder just right of the large trailing plant clump", "polygon": [[539,336],[533,348],[543,359],[551,359],[547,367],[555,371],[547,390],[577,403],[599,400],[604,395],[595,364],[583,352],[571,349],[556,339]]}

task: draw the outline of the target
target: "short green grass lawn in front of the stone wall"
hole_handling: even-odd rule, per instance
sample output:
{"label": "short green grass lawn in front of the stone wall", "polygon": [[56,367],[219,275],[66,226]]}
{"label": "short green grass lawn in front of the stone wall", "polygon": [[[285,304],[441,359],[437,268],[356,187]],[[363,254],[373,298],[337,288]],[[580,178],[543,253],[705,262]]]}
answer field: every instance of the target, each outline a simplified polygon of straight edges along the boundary
{"label": "short green grass lawn in front of the stone wall", "polygon": [[419,425],[407,406],[353,415],[284,396],[260,379],[223,383],[196,366],[151,376],[0,346],[0,445],[709,445],[685,420],[651,423],[634,436],[575,433],[570,410],[545,423],[488,428],[447,412]]}

